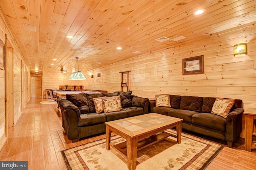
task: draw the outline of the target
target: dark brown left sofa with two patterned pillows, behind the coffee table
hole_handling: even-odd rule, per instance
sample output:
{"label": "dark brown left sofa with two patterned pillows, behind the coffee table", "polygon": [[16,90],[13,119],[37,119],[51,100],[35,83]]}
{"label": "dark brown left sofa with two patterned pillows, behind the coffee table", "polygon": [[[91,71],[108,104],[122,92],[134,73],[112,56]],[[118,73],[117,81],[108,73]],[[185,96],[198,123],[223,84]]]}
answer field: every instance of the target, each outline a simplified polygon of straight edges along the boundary
{"label": "dark brown left sofa with two patterned pillows, behind the coffee table", "polygon": [[[96,113],[93,98],[121,97],[122,110],[109,113]],[[105,122],[146,114],[149,111],[148,98],[133,96],[132,92],[114,92],[97,94],[67,94],[58,98],[57,103],[62,114],[62,127],[72,142],[105,132]]]}

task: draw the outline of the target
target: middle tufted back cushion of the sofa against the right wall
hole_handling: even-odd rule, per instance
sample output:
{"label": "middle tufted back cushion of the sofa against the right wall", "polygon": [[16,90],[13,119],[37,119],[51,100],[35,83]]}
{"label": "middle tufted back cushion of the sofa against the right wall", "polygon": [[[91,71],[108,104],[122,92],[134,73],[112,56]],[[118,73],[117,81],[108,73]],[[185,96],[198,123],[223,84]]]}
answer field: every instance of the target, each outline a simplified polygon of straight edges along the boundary
{"label": "middle tufted back cushion of the sofa against the right wall", "polygon": [[181,96],[180,109],[202,113],[203,98],[194,96]]}

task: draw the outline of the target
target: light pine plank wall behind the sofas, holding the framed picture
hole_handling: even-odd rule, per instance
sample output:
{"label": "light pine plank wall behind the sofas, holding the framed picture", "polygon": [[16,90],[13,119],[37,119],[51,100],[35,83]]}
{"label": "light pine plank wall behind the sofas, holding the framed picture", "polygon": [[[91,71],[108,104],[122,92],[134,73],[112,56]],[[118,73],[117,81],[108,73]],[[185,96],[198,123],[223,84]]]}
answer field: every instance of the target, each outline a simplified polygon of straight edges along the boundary
{"label": "light pine plank wall behind the sofas, holding the framed picture", "polygon": [[[247,43],[247,55],[234,57],[233,46]],[[204,55],[204,74],[182,75],[182,59]],[[121,57],[121,56],[120,56]],[[152,51],[126,61],[91,70],[86,88],[120,90],[120,71],[131,70],[130,90],[154,99],[156,94],[241,99],[244,109],[256,108],[256,25],[194,39],[186,45]],[[100,73],[100,77],[96,74]],[[244,137],[244,122],[243,132]]]}

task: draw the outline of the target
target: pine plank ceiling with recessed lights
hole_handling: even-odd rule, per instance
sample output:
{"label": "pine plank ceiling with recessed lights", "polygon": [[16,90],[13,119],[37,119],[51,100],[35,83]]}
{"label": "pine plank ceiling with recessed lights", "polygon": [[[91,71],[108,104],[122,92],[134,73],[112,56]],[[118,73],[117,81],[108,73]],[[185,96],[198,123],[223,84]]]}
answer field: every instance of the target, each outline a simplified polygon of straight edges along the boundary
{"label": "pine plank ceiling with recessed lights", "polygon": [[[254,0],[0,0],[0,8],[31,72],[71,73],[75,57],[84,72],[256,23]],[[170,40],[155,40],[162,36]]]}

